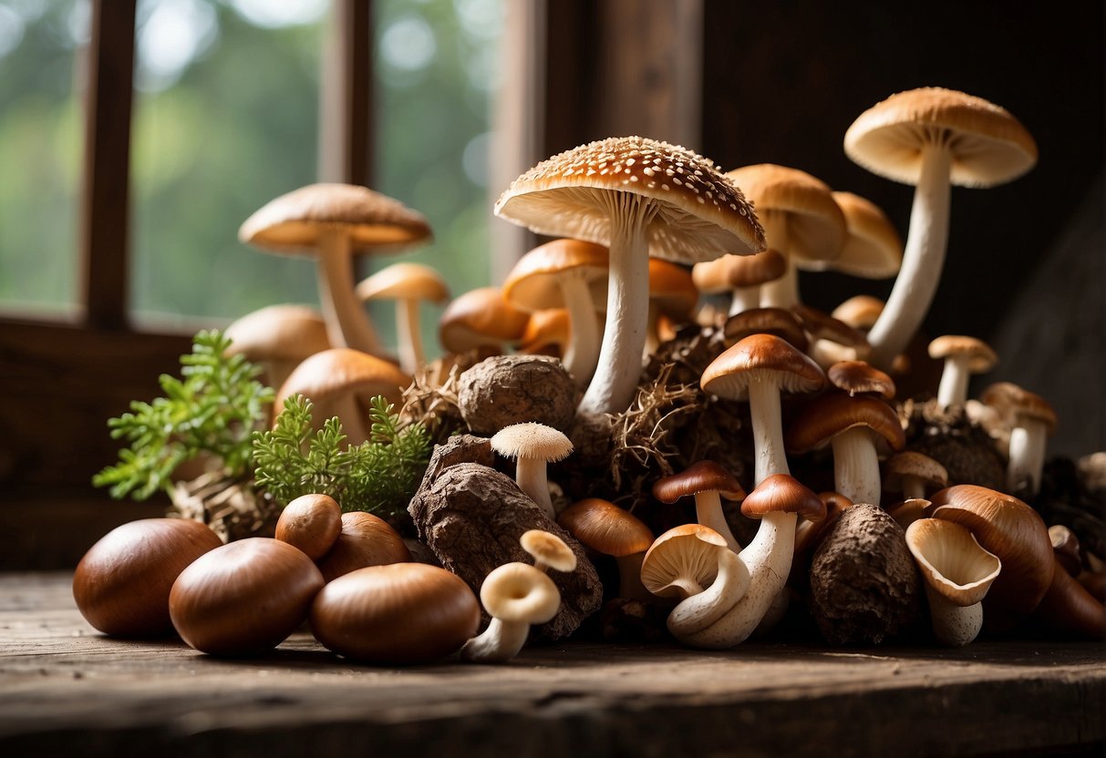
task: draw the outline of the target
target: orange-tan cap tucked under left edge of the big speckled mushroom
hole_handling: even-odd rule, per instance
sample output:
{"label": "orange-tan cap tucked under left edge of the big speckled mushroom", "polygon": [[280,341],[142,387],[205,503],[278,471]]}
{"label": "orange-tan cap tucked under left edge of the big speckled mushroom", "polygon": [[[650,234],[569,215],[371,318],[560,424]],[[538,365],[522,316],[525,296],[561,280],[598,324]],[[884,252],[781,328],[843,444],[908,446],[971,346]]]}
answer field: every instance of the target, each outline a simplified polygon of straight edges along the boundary
{"label": "orange-tan cap tucked under left edge of the big speckled mushroom", "polygon": [[557,281],[574,275],[589,283],[592,299],[604,306],[609,265],[611,252],[601,244],[553,240],[519,259],[503,282],[503,297],[521,310],[561,308],[565,304]]}

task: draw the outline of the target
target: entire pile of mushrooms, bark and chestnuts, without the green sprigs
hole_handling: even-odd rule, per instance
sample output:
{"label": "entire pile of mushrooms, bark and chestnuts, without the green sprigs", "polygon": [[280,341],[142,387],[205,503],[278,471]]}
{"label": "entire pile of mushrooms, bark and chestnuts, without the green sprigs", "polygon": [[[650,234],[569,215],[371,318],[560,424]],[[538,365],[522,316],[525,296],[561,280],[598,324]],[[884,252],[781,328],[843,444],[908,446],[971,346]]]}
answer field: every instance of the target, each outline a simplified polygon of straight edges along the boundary
{"label": "entire pile of mushrooms, bark and chestnuts, without the green sprigs", "polygon": [[[425,219],[359,187],[278,198],[241,239],[314,254],[322,313],[251,314],[228,329],[232,349],[280,388],[274,408],[304,394],[315,423],[338,417],[351,443],[368,438],[378,394],[435,428],[410,520],[317,494],[288,504],[273,536],[226,545],[195,520],[138,522],[82,561],[79,608],[108,634],[171,625],[225,655],[268,650],[307,620],[327,649],[386,663],[502,662],[528,636],[658,609],[671,636],[703,649],[771,635],[796,607],[832,643],[917,636],[922,614],[921,636],[948,645],[984,622],[1102,639],[1100,550],[1022,499],[1041,487],[1048,403],[1009,382],[970,398],[970,376],[997,357],[960,335],[928,345],[943,361],[932,399],[896,400],[940,281],[951,186],[1024,173],[1032,137],[1004,109],[932,87],[862,114],[845,150],[916,187],[905,245],[873,203],[793,168],[723,173],[640,137],[542,161],[495,213],[554,239],[501,286],[449,303],[435,361],[418,303],[447,301],[446,283],[399,263],[355,284],[351,265],[355,252],[426,240]],[[801,302],[796,271],[828,269],[896,281],[886,304],[822,314]],[[398,359],[366,315],[375,298],[397,302]],[[650,372],[657,362],[668,366]],[[656,391],[676,373],[691,380],[661,396],[708,409],[688,433],[738,418],[737,452],[660,455],[662,475],[619,497],[604,469],[625,452],[615,430],[643,412],[650,381]],[[661,408],[654,438],[674,414]],[[1001,482],[912,444],[919,414],[970,430],[1003,462]]]}

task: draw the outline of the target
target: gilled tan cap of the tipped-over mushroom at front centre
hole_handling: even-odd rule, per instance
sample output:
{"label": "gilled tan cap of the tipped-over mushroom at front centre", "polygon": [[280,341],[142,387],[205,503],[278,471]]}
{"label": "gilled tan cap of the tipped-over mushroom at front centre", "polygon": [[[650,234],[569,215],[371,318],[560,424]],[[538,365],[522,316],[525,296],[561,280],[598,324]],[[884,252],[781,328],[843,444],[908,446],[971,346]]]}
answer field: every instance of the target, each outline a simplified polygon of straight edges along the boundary
{"label": "gilled tan cap of the tipped-over mushroom at front centre", "polygon": [[660,598],[686,594],[688,583],[705,587],[718,575],[726,539],[710,527],[682,524],[657,537],[641,561],[641,583]]}

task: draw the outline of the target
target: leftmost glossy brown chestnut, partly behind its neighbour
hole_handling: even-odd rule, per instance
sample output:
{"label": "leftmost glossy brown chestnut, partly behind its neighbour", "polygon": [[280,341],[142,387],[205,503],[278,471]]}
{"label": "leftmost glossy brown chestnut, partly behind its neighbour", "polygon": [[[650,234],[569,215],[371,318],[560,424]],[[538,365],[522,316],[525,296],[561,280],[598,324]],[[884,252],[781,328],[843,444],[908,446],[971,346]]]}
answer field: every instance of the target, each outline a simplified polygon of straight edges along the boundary
{"label": "leftmost glossy brown chestnut, partly behind its neighbour", "polygon": [[222,545],[205,524],[143,518],[123,524],[88,548],[73,575],[73,599],[85,621],[113,636],[169,634],[169,590],[185,567]]}

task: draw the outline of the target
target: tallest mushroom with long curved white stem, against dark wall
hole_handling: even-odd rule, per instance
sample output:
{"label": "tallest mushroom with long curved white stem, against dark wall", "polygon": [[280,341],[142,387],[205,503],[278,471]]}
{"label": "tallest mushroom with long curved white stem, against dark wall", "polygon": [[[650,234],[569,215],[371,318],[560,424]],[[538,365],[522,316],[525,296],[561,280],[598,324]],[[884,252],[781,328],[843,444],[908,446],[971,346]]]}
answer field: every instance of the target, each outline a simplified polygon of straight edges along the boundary
{"label": "tallest mushroom with long curved white stem, against dark wall", "polygon": [[879,176],[915,186],[902,265],[868,333],[869,360],[888,370],[929,310],[945,265],[950,185],[992,187],[1036,162],[1029,131],[1006,110],[962,92],[924,87],[868,108],[845,133],[845,152]]}

